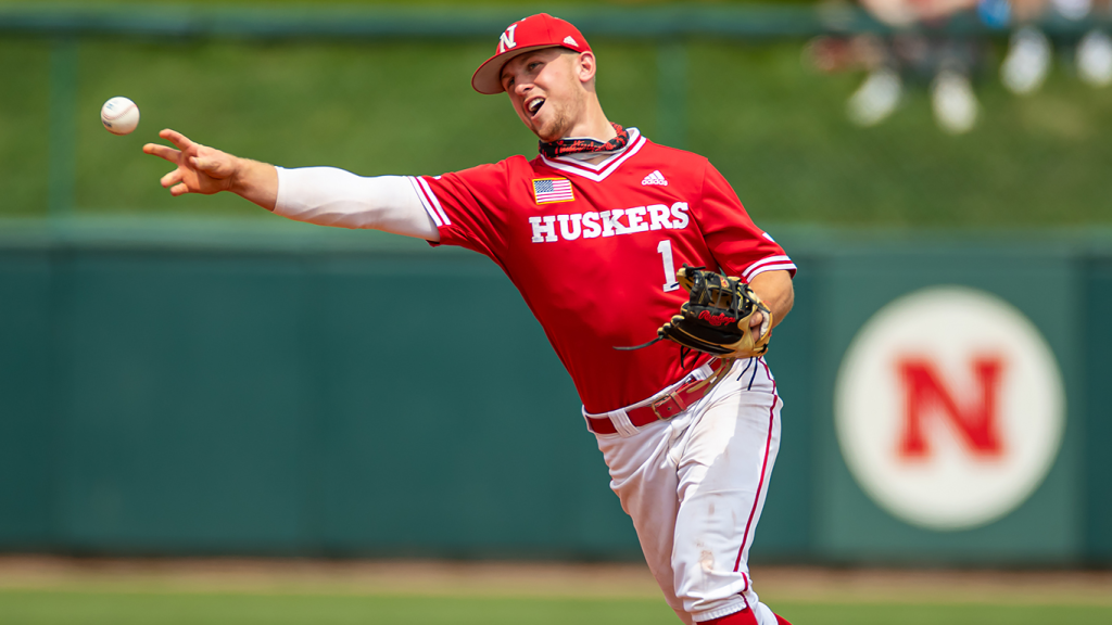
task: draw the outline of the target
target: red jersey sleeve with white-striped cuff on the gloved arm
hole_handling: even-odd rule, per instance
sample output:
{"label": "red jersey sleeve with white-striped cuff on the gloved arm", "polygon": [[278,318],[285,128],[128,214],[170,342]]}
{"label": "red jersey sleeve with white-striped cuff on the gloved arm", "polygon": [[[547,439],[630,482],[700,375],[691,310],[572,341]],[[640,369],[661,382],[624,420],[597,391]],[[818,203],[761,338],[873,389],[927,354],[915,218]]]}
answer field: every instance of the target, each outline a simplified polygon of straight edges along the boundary
{"label": "red jersey sleeve with white-striped cuff on the gloved arm", "polygon": [[753,220],[737,194],[711,163],[706,165],[703,192],[695,211],[711,254],[731,276],[746,282],[765,271],[786,270],[795,275],[795,264],[773,238]]}

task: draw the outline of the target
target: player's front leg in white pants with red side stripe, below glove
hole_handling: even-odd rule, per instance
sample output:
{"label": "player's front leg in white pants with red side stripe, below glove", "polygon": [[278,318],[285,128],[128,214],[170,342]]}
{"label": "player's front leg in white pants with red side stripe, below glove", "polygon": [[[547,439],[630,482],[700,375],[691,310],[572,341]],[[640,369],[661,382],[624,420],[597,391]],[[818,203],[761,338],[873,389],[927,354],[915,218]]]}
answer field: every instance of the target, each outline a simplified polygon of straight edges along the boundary
{"label": "player's front leg in white pants with red side stripe, below glove", "polygon": [[781,400],[771,385],[752,386],[696,416],[678,462],[675,588],[699,621],[757,604],[748,549],[780,449]]}

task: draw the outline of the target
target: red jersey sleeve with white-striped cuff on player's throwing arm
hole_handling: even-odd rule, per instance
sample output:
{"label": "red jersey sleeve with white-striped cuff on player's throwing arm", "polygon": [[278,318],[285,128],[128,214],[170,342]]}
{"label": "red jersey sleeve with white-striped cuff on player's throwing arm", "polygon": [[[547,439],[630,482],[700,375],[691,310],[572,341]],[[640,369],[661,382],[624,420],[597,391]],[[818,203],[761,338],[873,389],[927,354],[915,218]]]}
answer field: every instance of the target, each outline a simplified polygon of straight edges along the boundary
{"label": "red jersey sleeve with white-striped cuff on player's throwing arm", "polygon": [[494,260],[504,249],[507,161],[441,176],[415,176],[409,182],[436,225],[439,242],[465,247]]}

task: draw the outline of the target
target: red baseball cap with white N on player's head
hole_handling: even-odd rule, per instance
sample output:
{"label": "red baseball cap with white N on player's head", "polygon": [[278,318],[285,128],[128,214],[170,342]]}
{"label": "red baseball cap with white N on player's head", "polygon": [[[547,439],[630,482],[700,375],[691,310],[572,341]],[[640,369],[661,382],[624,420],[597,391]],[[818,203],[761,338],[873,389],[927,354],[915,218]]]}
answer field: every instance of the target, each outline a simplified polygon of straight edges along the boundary
{"label": "red baseball cap with white N on player's head", "polygon": [[479,93],[502,93],[502,68],[518,54],[540,48],[568,48],[576,52],[589,52],[590,46],[583,33],[569,22],[548,13],[537,13],[518,20],[498,38],[494,56],[475,70],[471,87]]}

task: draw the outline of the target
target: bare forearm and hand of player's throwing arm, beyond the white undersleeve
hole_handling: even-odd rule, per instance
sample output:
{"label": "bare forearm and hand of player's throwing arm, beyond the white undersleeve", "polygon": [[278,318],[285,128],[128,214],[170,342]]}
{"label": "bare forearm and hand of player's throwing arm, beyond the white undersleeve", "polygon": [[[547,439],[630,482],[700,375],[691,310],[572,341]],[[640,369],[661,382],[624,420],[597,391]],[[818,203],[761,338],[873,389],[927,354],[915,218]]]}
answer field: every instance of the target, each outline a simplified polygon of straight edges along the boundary
{"label": "bare forearm and hand of player's throwing arm, beyond the white undersleeve", "polygon": [[162,177],[162,187],[170,189],[170,195],[231,191],[267,210],[275,209],[278,201],[278,171],[275,166],[195,143],[169,128],[158,136],[169,140],[177,149],[147,143],[142,151],[177,166]]}

